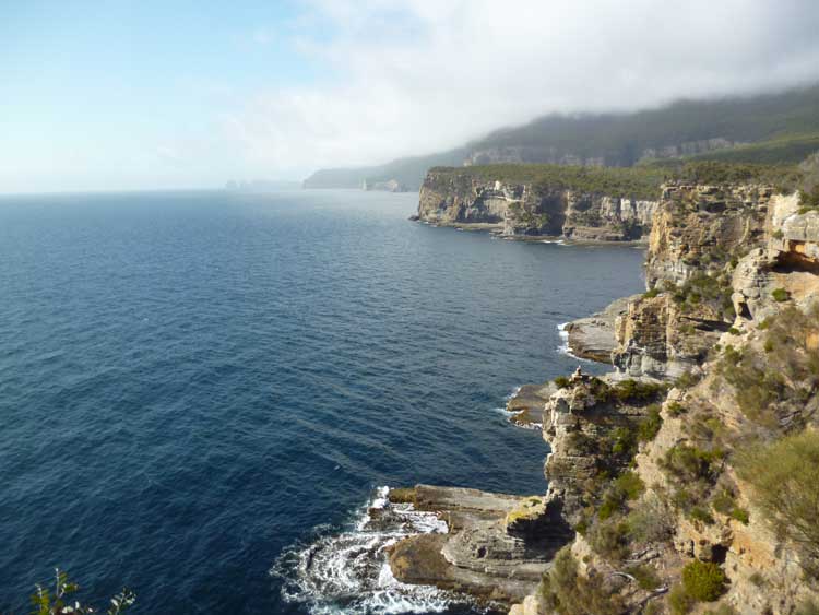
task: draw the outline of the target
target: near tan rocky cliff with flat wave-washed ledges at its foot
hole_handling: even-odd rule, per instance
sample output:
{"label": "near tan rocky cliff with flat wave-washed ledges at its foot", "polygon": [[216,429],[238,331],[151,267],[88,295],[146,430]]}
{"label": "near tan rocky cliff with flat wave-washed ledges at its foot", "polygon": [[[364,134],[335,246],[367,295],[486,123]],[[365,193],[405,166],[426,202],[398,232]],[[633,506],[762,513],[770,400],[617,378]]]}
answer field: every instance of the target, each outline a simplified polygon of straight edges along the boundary
{"label": "near tan rocky cliff with flat wave-washed ledges at its foot", "polygon": [[[771,531],[732,461],[750,435],[819,427],[819,409],[787,402],[800,385],[776,380],[779,423],[762,423],[768,406],[748,410],[758,401],[726,367],[756,353],[787,372],[819,348],[805,316],[819,309],[819,212],[770,186],[669,182],[652,213],[646,293],[566,327],[572,354],[613,371],[523,386],[507,404],[549,443],[548,492],[397,492],[450,530],[394,545],[397,579],[515,603],[515,615],[686,613],[701,600],[785,615],[819,600],[802,546]],[[803,336],[769,333],[783,314]],[[707,599],[684,578],[697,565],[720,579]]]}

